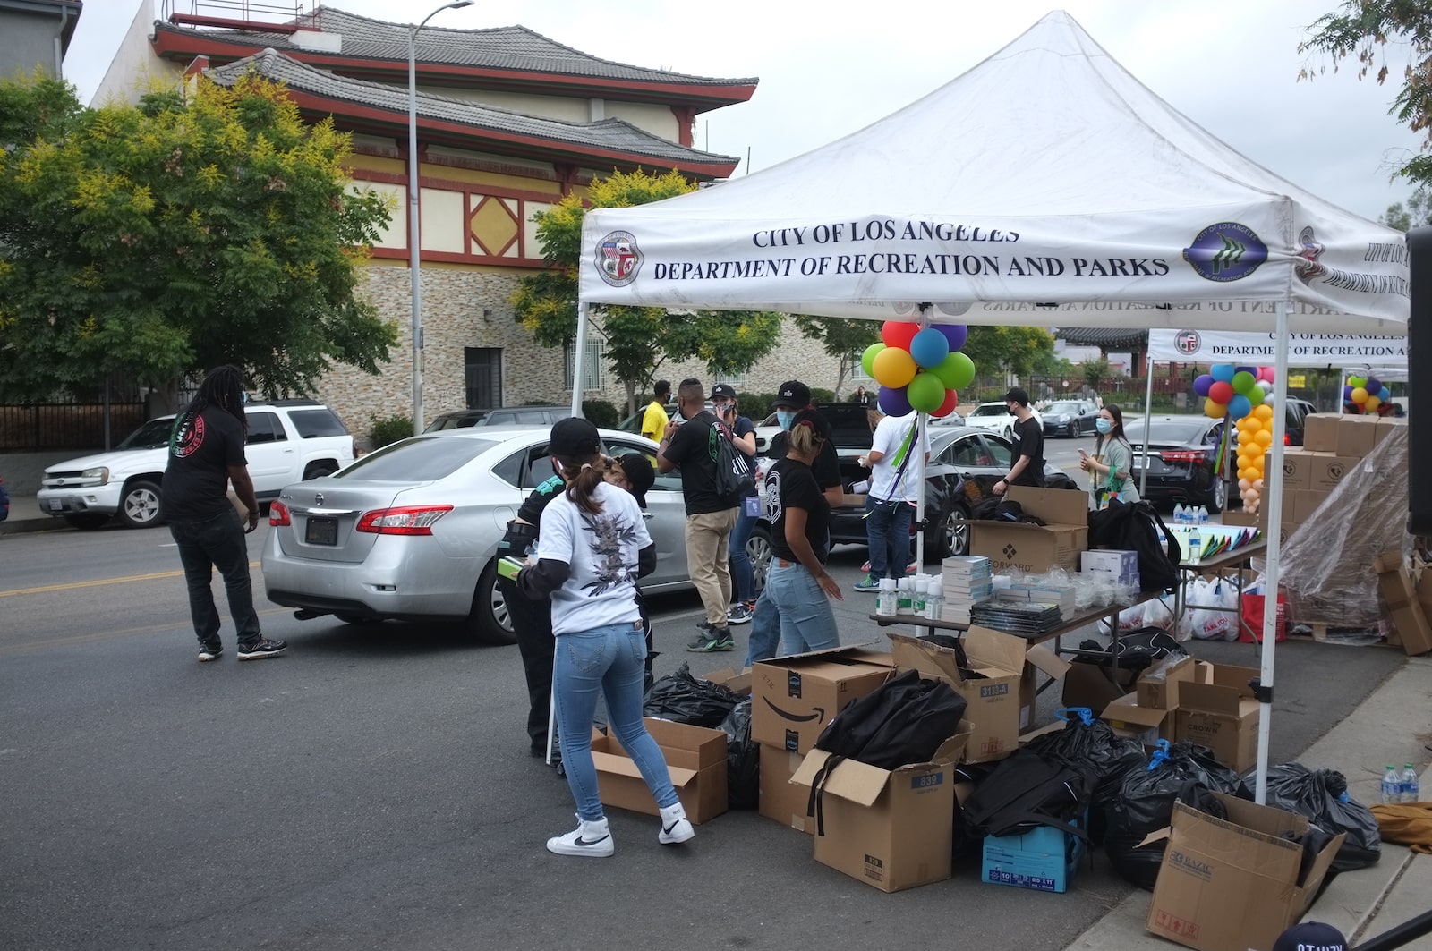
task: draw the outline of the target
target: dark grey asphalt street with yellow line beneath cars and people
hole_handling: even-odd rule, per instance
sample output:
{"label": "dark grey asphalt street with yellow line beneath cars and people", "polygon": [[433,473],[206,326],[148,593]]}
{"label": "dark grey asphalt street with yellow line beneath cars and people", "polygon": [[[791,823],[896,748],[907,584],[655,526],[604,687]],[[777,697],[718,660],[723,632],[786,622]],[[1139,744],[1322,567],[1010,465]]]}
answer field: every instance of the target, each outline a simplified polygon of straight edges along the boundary
{"label": "dark grey asphalt street with yellow line beneath cars and people", "polygon": [[[1074,445],[1054,443],[1051,457]],[[255,561],[266,530],[251,537]],[[832,556],[848,643],[879,637],[874,596],[849,592],[863,557]],[[162,528],[0,537],[0,577],[7,950],[868,950],[959,935],[1038,951],[1065,947],[1128,891],[1098,858],[1068,895],[982,885],[972,866],[885,895],[746,812],[676,849],[657,845],[653,818],[613,811],[614,858],[557,858],[543,842],[570,828],[571,798],[527,756],[514,647],[268,606],[265,633],[288,639],[288,656],[236,663],[226,626],[229,655],[199,665]],[[682,649],[695,594],[654,602],[659,676],[683,660],[697,673],[739,662]],[[1194,650],[1256,663],[1246,645]],[[1279,656],[1274,761],[1402,663],[1315,643]]]}

